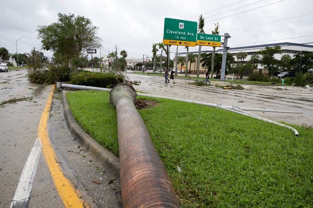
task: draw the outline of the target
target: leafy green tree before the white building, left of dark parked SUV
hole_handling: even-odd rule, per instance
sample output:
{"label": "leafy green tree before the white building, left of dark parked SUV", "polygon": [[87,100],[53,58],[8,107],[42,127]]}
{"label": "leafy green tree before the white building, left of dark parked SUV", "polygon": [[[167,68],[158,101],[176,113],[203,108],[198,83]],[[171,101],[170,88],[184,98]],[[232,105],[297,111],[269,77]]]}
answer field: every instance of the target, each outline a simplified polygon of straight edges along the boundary
{"label": "leafy green tree before the white building, left of dark parked SUV", "polygon": [[266,46],[265,49],[262,49],[261,51],[257,52],[257,54],[260,54],[262,57],[260,59],[260,64],[264,66],[265,69],[269,71],[269,79],[271,77],[272,71],[277,71],[278,67],[278,61],[275,59],[275,54],[281,54],[280,46],[274,46],[269,47]]}

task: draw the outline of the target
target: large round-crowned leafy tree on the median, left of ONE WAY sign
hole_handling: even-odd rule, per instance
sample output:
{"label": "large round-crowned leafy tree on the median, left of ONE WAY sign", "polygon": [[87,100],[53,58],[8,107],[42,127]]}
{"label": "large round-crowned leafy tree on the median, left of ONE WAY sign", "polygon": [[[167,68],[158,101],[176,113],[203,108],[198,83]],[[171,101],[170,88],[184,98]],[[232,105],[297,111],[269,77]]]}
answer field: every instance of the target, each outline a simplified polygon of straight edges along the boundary
{"label": "large round-crowned leafy tree on the median, left of ONE WAY sign", "polygon": [[58,22],[38,26],[37,31],[43,49],[63,56],[64,65],[72,66],[71,59],[82,56],[87,49],[102,47],[102,40],[96,35],[99,28],[93,26],[90,19],[74,14],[58,13],[58,16]]}

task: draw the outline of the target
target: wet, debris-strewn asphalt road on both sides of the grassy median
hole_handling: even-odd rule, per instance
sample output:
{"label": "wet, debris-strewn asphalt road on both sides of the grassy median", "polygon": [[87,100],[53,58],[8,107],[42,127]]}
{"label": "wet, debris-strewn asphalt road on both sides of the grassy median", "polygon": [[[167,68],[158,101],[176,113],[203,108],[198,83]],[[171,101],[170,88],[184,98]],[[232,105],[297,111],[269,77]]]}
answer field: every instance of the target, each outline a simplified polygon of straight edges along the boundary
{"label": "wet, debris-strewn asphalt road on both sides of the grassy median", "polygon": [[[212,81],[210,86],[194,86],[187,79],[176,79],[176,84],[164,83],[163,76],[148,76],[127,72],[141,92],[189,99],[213,104],[263,109],[253,112],[268,119],[286,123],[313,126],[313,90],[293,86],[242,85],[244,90],[217,88],[226,85]],[[0,73],[0,101],[24,99],[0,106],[0,207],[10,207],[20,182],[25,163],[36,144],[38,131],[46,128],[55,152],[55,161],[77,192],[77,196],[90,207],[121,207],[119,176],[110,166],[85,148],[66,124],[60,90],[53,94],[46,126],[40,120],[48,102],[52,85],[28,83],[26,70]],[[204,75],[200,75],[204,76]],[[303,114],[269,113],[265,110],[303,111]],[[72,128],[72,127],[71,127]],[[300,133],[301,134],[301,133]],[[95,157],[96,156],[96,157]],[[99,182],[99,183],[98,183]],[[56,188],[58,181],[39,153],[33,177],[28,207],[67,207]]]}

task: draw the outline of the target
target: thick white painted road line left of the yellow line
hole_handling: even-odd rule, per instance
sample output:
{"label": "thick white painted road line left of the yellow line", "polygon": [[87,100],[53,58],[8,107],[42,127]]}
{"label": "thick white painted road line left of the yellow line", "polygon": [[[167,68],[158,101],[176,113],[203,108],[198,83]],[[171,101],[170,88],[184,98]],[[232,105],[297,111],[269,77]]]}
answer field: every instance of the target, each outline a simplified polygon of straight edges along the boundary
{"label": "thick white painted road line left of the yellow line", "polygon": [[23,172],[18,182],[18,187],[16,188],[10,208],[26,207],[28,204],[40,152],[41,144],[39,138],[37,138],[24,165]]}

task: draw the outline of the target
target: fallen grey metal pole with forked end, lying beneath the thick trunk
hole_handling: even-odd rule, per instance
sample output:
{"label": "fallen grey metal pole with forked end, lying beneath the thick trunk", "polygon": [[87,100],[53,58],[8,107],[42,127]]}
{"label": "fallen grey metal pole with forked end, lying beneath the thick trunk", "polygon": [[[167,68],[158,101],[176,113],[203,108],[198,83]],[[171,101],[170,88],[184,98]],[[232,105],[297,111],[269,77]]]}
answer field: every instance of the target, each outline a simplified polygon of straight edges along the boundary
{"label": "fallen grey metal pole with forked end, lying beneath the thick trunk", "polygon": [[[72,89],[84,89],[84,90],[100,90],[100,91],[111,91],[111,89],[106,89],[106,88],[100,88],[100,87],[88,87],[88,86],[82,86],[82,85],[69,85],[69,84],[63,84],[60,82],[56,83],[56,88],[72,88]],[[200,102],[200,101],[194,101],[194,100],[186,100],[186,99],[180,99],[180,98],[172,98],[172,97],[165,97],[165,96],[160,96],[160,95],[153,95],[153,94],[145,94],[145,93],[136,93],[137,95],[142,95],[142,96],[147,96],[147,97],[152,97],[152,98],[166,98],[166,99],[172,99],[172,100],[179,100],[179,101],[184,101],[184,102],[188,102],[188,103],[195,103],[195,104],[200,104],[200,105],[207,105],[210,107],[218,107],[221,109],[225,109],[225,110],[229,110],[235,113],[240,113],[243,115],[247,115],[250,116],[252,118],[255,119],[259,119],[259,120],[263,120],[263,121],[267,121],[269,123],[275,123],[277,125],[292,129],[295,133],[295,136],[299,136],[299,133],[296,129],[287,126],[285,124],[282,123],[278,123],[276,121],[272,121],[266,118],[263,118],[261,116],[258,115],[254,115],[254,114],[250,114],[248,112],[244,112],[244,110],[248,110],[248,111],[262,111],[262,112],[275,112],[275,113],[291,113],[291,114],[302,114],[302,111],[280,111],[280,110],[267,110],[267,109],[252,109],[252,108],[239,108],[239,107],[234,107],[234,106],[228,106],[228,105],[222,105],[222,104],[213,104],[213,103],[205,103],[205,102]],[[238,110],[237,110],[238,109]],[[239,111],[243,111],[243,112],[239,112]]]}

